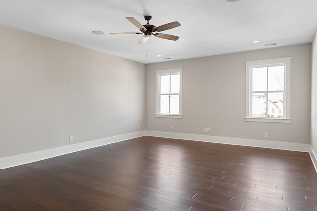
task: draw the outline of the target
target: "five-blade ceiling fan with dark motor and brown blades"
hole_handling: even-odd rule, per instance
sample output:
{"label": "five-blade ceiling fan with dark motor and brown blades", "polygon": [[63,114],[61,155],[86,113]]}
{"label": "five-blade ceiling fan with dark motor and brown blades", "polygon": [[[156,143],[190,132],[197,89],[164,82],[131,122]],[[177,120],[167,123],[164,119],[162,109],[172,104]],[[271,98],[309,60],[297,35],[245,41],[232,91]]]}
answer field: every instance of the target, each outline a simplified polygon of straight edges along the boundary
{"label": "five-blade ceiling fan with dark motor and brown blades", "polygon": [[139,21],[137,21],[133,17],[126,17],[126,19],[128,19],[128,21],[130,21],[133,25],[138,27],[141,32],[113,32],[110,34],[116,34],[116,35],[144,34],[144,36],[141,38],[139,44],[146,43],[151,35],[154,35],[155,37],[167,39],[167,40],[173,40],[173,41],[176,41],[179,38],[178,36],[175,36],[175,35],[168,35],[168,34],[159,33],[159,32],[180,26],[180,23],[178,23],[177,21],[156,27],[156,26],[149,24],[149,20],[152,19],[152,17],[149,15],[144,16],[144,19],[147,21],[147,24],[145,24],[145,25],[142,25]]}

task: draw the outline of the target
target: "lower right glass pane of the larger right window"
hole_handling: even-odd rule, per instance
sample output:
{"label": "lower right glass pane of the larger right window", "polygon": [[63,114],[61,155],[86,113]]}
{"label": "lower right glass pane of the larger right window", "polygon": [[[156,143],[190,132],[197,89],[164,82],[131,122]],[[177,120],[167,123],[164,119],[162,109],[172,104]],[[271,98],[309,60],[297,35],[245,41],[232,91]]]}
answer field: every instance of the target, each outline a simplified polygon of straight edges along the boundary
{"label": "lower right glass pane of the larger right window", "polygon": [[[268,93],[267,116],[283,118],[284,113],[284,94]],[[279,112],[280,111],[280,112]]]}

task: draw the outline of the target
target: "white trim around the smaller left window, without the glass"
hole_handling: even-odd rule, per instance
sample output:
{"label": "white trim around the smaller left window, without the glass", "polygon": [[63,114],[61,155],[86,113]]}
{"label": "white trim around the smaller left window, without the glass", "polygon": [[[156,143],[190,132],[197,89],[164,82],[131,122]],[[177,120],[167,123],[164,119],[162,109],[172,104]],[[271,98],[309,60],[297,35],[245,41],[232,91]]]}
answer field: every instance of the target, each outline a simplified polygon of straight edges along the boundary
{"label": "white trim around the smaller left window, without the glass", "polygon": [[[180,74],[179,80],[179,114],[159,114],[159,76],[170,75],[173,73]],[[182,118],[182,73],[183,68],[170,69],[170,70],[157,70],[155,71],[155,117],[162,118]]]}

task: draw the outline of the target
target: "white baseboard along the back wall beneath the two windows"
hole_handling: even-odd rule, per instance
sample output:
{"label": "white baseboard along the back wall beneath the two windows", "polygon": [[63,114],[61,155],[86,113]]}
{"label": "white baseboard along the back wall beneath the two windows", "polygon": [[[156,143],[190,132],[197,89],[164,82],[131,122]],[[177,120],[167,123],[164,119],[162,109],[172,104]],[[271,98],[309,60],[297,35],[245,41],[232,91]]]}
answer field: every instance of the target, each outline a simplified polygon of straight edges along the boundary
{"label": "white baseboard along the back wall beneath the two windows", "polygon": [[232,145],[240,145],[240,146],[310,152],[309,144],[263,141],[263,140],[242,139],[242,138],[228,138],[228,137],[218,137],[218,136],[210,136],[210,135],[195,135],[195,134],[159,132],[159,131],[145,131],[145,135],[163,137],[163,138],[191,140],[191,141],[204,141],[204,142],[212,142],[212,143],[220,143],[220,144],[232,144]]}

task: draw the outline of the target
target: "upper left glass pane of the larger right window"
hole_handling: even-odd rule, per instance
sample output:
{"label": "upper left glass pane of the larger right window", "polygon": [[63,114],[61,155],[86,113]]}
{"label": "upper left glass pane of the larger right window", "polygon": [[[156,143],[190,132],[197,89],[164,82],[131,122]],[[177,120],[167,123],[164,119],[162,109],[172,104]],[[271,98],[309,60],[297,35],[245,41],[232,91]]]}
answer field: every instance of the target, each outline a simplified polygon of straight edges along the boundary
{"label": "upper left glass pane of the larger right window", "polygon": [[252,91],[267,91],[267,68],[252,68]]}

